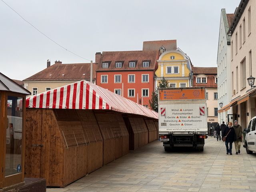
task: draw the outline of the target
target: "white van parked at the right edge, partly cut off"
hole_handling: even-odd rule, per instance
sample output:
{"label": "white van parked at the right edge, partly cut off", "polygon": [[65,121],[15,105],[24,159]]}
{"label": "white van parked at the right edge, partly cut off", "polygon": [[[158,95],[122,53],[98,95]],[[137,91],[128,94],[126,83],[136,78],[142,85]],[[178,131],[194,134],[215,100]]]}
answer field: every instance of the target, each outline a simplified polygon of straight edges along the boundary
{"label": "white van parked at the right edge, partly cut off", "polygon": [[253,117],[248,125],[247,129],[244,129],[246,136],[244,139],[244,147],[246,148],[247,154],[252,154],[256,152],[256,116]]}

